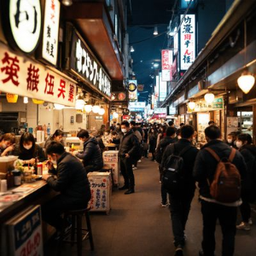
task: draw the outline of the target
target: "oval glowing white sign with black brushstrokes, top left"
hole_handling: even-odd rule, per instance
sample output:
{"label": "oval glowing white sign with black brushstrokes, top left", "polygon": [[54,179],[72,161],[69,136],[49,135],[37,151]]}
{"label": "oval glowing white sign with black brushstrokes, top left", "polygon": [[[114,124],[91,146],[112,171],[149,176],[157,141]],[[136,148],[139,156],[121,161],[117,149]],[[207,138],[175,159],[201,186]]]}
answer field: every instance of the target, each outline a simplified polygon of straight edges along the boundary
{"label": "oval glowing white sign with black brushstrokes, top left", "polygon": [[[8,14],[4,14],[8,15]],[[15,44],[24,52],[36,49],[41,32],[40,0],[9,0],[9,23]]]}

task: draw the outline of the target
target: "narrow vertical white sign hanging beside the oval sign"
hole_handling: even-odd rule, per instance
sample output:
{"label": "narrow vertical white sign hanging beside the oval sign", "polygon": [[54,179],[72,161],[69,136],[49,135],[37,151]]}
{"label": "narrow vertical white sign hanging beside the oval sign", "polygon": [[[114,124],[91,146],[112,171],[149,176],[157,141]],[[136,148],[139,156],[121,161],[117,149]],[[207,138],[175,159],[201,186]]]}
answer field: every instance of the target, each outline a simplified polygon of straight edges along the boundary
{"label": "narrow vertical white sign hanging beside the oval sign", "polygon": [[56,65],[58,56],[60,10],[59,0],[45,1],[42,56],[53,65]]}

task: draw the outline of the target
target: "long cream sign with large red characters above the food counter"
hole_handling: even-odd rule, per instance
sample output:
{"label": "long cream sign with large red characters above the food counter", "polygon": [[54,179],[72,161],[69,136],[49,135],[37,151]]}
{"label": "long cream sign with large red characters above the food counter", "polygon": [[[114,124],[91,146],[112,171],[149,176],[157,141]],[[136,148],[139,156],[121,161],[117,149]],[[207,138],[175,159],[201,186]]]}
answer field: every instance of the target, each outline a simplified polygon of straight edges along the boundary
{"label": "long cream sign with large red characters above the food counter", "polygon": [[0,44],[0,90],[74,107],[76,84]]}

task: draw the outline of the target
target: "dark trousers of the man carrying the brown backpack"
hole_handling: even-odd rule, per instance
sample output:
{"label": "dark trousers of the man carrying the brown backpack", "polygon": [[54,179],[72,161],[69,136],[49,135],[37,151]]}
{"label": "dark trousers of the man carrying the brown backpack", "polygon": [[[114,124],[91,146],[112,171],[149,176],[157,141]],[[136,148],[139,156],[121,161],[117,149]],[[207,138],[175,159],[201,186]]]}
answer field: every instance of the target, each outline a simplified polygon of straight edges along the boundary
{"label": "dark trousers of the man carrying the brown backpack", "polygon": [[201,212],[203,216],[203,241],[201,246],[204,255],[214,255],[215,227],[218,219],[223,234],[222,256],[232,256],[235,251],[237,207],[225,207],[216,203],[201,201]]}

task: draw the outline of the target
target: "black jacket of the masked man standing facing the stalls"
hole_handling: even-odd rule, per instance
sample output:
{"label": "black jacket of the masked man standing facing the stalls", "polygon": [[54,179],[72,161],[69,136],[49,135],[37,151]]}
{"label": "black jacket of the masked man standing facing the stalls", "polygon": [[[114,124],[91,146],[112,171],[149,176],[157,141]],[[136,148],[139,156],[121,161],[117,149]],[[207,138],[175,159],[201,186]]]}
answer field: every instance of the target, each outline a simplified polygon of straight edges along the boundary
{"label": "black jacket of the masked man standing facing the stalls", "polygon": [[122,133],[119,139],[113,139],[113,143],[119,144],[119,156],[125,157],[129,154],[131,159],[136,159],[139,151],[139,143],[132,130]]}

